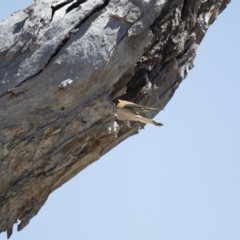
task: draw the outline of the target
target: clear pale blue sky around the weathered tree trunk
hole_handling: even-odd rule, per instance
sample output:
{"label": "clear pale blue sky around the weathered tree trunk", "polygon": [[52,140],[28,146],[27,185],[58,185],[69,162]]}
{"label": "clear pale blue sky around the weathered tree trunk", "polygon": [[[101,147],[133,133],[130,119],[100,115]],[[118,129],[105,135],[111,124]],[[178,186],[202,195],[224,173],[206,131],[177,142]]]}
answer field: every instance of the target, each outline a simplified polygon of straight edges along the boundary
{"label": "clear pale blue sky around the weathered tree trunk", "polygon": [[[0,19],[31,0],[0,0]],[[12,240],[240,239],[240,1],[156,120],[56,190]],[[6,234],[0,235],[6,239]]]}

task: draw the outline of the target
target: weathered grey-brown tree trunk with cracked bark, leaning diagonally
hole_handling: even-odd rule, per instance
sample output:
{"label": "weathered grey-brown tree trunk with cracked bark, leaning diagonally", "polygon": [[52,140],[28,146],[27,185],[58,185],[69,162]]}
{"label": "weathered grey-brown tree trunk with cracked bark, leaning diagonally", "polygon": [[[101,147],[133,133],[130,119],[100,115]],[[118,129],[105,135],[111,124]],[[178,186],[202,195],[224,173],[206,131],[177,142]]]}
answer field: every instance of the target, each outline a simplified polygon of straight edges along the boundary
{"label": "weathered grey-brown tree trunk with cracked bark, leaning diagonally", "polygon": [[167,104],[229,1],[36,0],[0,24],[0,232],[138,133],[112,100]]}

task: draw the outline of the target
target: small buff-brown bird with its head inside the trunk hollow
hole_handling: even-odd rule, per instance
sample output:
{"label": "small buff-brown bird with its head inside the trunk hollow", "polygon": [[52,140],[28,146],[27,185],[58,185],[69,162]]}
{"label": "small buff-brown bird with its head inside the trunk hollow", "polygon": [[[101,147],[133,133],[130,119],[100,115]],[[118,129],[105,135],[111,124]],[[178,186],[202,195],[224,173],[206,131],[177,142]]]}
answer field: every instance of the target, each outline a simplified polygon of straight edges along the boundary
{"label": "small buff-brown bird with its head inside the trunk hollow", "polygon": [[151,111],[158,111],[158,108],[146,107],[136,103],[117,99],[115,100],[117,108],[117,119],[124,121],[137,121],[152,124],[154,126],[163,126],[162,123],[155,122],[150,118],[143,117],[142,114]]}

